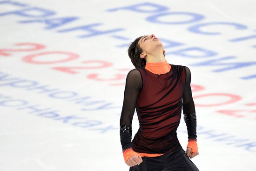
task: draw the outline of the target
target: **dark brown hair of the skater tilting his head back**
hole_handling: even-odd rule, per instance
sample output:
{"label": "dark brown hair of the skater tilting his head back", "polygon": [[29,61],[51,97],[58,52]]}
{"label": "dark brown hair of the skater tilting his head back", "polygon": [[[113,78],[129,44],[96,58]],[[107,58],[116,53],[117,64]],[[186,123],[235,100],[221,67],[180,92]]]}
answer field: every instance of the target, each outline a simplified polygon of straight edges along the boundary
{"label": "dark brown hair of the skater tilting his head back", "polygon": [[[141,58],[140,54],[142,53],[142,49],[138,44],[139,40],[143,36],[136,38],[133,42],[131,42],[128,48],[128,56],[130,57],[133,65],[136,67],[144,67],[146,65],[146,59]],[[164,55],[164,54],[163,54]]]}

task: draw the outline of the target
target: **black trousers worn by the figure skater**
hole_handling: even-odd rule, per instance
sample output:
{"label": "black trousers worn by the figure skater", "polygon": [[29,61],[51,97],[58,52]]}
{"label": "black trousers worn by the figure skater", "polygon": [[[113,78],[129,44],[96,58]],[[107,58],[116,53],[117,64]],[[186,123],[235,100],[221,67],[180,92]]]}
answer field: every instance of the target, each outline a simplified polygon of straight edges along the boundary
{"label": "black trousers worn by the figure skater", "polygon": [[142,160],[140,165],[130,167],[129,171],[199,171],[182,146],[162,156],[142,157]]}

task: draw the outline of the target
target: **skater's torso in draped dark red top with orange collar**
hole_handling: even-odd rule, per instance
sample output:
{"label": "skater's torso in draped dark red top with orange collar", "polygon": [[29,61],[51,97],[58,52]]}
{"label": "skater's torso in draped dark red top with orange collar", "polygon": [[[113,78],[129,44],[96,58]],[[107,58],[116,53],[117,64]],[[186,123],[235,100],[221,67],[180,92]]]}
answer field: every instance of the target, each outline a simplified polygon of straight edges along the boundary
{"label": "skater's torso in draped dark red top with orange collar", "polygon": [[[181,119],[186,71],[182,65],[167,64],[168,72],[155,72],[164,74],[153,73],[147,65],[137,68],[142,78],[142,88],[136,99],[140,128],[132,146],[135,152],[144,153],[143,156],[162,155],[181,146],[176,130]],[[157,67],[153,69],[157,71]]]}

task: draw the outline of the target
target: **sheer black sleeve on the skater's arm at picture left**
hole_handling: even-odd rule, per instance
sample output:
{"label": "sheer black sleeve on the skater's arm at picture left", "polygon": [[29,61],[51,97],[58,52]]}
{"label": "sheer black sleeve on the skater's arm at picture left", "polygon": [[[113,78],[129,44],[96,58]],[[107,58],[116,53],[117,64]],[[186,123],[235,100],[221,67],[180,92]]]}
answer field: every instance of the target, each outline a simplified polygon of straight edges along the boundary
{"label": "sheer black sleeve on the skater's arm at picture left", "polygon": [[137,95],[143,86],[141,73],[134,69],[126,77],[123,106],[120,117],[120,139],[122,150],[132,146],[132,120],[135,112]]}

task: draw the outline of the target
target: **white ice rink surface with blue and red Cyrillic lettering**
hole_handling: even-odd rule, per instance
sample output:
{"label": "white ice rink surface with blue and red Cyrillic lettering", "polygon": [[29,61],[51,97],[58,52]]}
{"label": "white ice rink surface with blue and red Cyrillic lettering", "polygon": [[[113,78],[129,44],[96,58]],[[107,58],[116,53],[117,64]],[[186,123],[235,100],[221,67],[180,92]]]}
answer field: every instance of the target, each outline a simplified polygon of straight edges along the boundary
{"label": "white ice rink surface with blue and red Cyrillic lettering", "polygon": [[[191,70],[191,160],[256,171],[255,0],[0,0],[0,171],[128,171],[127,50],[152,33]],[[177,134],[185,150],[183,114]]]}

